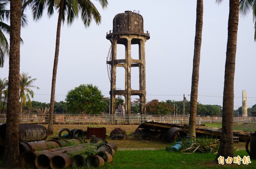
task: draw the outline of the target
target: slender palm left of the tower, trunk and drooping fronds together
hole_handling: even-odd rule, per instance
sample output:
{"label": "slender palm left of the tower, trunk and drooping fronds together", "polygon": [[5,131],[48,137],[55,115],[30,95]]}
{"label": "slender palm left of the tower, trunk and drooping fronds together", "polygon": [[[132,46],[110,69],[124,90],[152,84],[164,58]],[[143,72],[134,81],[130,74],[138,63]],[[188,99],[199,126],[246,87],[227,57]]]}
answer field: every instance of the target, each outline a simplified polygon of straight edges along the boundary
{"label": "slender palm left of the tower, trunk and drooping fronds together", "polygon": [[[108,0],[96,0],[99,1],[102,8],[108,6]],[[47,15],[51,17],[54,13],[54,8],[58,10],[58,24],[56,32],[56,43],[55,43],[55,55],[52,71],[52,89],[51,89],[51,100],[49,110],[49,124],[48,124],[48,135],[53,135],[53,109],[55,102],[55,84],[58,67],[58,55],[60,46],[60,35],[61,35],[61,21],[64,23],[67,20],[67,25],[71,25],[75,18],[78,18],[79,13],[81,14],[81,20],[84,23],[85,28],[90,26],[92,20],[95,20],[96,24],[99,25],[101,22],[101,15],[97,8],[93,5],[90,0],[27,0],[24,6],[31,6],[34,20],[39,20],[42,17],[44,8],[47,8]]]}

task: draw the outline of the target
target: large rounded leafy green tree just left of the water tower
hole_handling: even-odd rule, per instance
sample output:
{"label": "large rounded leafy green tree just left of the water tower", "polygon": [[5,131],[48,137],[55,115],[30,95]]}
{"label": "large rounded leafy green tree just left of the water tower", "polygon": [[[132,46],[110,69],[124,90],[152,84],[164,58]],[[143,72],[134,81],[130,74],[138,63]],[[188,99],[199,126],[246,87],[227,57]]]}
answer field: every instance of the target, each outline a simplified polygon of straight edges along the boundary
{"label": "large rounded leafy green tree just left of the water tower", "polygon": [[101,114],[107,106],[98,87],[92,84],[80,85],[68,91],[67,111],[80,114]]}

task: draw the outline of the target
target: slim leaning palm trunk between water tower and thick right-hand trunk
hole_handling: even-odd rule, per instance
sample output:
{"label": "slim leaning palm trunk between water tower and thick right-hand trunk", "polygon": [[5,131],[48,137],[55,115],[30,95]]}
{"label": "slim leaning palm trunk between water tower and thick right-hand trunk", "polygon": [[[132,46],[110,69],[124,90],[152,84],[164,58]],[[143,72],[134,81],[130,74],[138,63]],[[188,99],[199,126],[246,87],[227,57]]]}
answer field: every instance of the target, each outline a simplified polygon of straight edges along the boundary
{"label": "slim leaning palm trunk between water tower and thick right-hand trunk", "polygon": [[188,135],[193,137],[195,137],[202,29],[203,29],[203,0],[197,0],[196,23],[195,23],[195,46],[194,46],[192,85],[191,85],[190,108],[189,108],[189,129],[188,129]]}

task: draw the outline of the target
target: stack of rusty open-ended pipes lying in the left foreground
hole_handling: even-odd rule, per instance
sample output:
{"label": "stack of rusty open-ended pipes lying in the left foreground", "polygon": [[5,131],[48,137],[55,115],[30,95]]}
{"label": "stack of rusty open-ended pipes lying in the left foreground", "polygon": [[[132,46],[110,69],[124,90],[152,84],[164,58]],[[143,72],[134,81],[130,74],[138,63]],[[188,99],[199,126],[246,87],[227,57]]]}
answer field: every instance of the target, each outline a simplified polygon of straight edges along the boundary
{"label": "stack of rusty open-ended pipes lying in the left foreground", "polygon": [[[115,143],[97,144],[85,143],[76,146],[66,146],[43,151],[24,151],[20,154],[20,166],[23,168],[47,169],[49,167],[67,168],[87,166],[99,168],[104,163],[111,163],[112,156],[117,150]],[[79,159],[79,160],[78,160]]]}

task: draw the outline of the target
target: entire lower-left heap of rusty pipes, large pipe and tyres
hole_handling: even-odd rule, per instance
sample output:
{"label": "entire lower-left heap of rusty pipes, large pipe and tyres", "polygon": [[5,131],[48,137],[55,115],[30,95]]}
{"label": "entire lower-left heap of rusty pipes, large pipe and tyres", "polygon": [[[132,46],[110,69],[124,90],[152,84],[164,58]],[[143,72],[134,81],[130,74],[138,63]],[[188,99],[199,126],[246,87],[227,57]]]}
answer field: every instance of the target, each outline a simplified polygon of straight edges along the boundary
{"label": "entire lower-left heap of rusty pipes, large pipe and tyres", "polygon": [[[104,166],[105,163],[111,163],[117,150],[115,143],[108,143],[95,135],[91,135],[90,143],[84,141],[85,133],[79,129],[61,135],[67,130],[62,129],[58,137],[45,141],[47,129],[44,126],[31,124],[20,126],[19,163],[23,168],[64,169],[72,166],[94,169]],[[5,145],[4,131],[5,126],[1,125],[0,147],[2,148]],[[44,140],[41,140],[42,137]]]}

